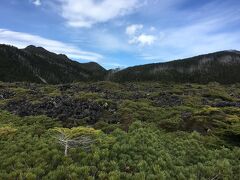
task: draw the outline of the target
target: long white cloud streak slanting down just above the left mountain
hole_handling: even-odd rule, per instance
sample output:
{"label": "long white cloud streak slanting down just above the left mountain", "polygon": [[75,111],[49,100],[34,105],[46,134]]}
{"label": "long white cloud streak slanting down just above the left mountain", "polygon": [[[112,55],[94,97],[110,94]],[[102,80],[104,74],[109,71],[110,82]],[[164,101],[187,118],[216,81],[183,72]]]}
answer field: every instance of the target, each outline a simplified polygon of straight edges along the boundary
{"label": "long white cloud streak slanting down just above the left mountain", "polygon": [[32,44],[35,46],[44,47],[47,50],[55,53],[66,54],[70,58],[75,58],[78,60],[81,59],[85,61],[98,62],[103,58],[103,56],[100,54],[82,51],[78,47],[71,44],[66,44],[60,41],[46,39],[27,33],[10,31],[7,29],[0,29],[0,43],[14,45],[18,48],[24,48]]}

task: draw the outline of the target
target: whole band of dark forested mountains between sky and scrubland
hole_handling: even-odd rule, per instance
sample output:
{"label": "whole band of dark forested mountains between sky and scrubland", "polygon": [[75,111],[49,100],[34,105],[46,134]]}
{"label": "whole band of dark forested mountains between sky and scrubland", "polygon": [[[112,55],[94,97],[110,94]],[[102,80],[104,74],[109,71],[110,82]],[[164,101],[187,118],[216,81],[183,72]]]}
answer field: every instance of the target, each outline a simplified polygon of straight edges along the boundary
{"label": "whole band of dark forested mountains between sky and scrubland", "polygon": [[63,84],[77,81],[162,81],[231,84],[240,82],[240,51],[224,50],[168,62],[106,70],[33,45],[0,45],[0,81]]}

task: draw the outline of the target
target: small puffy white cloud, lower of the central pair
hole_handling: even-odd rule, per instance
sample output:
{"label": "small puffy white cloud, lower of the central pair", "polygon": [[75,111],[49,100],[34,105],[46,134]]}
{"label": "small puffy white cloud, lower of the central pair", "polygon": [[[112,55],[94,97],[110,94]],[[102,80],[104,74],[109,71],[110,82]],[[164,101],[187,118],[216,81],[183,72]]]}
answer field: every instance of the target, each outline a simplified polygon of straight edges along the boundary
{"label": "small puffy white cloud, lower of the central pair", "polygon": [[156,40],[157,37],[154,35],[141,34],[133,37],[133,39],[129,41],[129,44],[139,44],[141,46],[152,45]]}

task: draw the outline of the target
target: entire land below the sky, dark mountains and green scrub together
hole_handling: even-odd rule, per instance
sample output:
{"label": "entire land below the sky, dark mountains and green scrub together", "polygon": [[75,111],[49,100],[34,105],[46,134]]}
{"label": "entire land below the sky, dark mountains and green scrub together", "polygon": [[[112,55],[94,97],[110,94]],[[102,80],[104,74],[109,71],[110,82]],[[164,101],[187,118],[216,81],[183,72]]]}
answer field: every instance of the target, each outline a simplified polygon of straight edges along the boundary
{"label": "entire land below the sky, dark mountains and green scrub together", "polygon": [[0,179],[240,179],[240,54],[106,70],[0,46]]}

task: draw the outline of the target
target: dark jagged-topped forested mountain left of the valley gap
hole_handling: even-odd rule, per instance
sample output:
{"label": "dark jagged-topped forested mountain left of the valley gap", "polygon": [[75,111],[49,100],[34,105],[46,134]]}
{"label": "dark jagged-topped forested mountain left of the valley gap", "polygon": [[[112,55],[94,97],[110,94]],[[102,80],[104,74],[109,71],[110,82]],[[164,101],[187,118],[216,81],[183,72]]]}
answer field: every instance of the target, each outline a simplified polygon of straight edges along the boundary
{"label": "dark jagged-topped forested mountain left of the valley gap", "polygon": [[106,73],[97,63],[78,63],[41,47],[0,45],[1,81],[60,84],[102,80]]}

